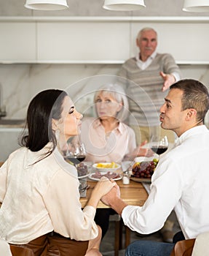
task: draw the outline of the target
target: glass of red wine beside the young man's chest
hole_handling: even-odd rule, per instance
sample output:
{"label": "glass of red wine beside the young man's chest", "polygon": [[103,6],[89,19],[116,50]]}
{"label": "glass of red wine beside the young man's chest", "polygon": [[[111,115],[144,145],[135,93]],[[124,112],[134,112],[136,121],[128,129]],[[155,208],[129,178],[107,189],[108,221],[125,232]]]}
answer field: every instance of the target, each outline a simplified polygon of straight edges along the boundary
{"label": "glass of red wine beside the young man's chest", "polygon": [[168,140],[167,136],[158,136],[158,135],[153,135],[151,137],[151,150],[154,151],[154,153],[161,155],[165,151],[167,151],[168,148]]}

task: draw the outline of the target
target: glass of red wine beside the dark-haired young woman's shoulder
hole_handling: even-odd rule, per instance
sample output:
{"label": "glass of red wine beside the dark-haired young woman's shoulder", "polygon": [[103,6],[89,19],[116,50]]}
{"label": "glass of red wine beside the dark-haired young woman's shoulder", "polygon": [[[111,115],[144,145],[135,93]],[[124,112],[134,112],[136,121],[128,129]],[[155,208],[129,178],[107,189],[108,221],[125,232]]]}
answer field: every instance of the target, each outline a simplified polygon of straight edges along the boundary
{"label": "glass of red wine beside the dark-haired young woman's shoulder", "polygon": [[73,163],[76,167],[80,162],[84,161],[86,158],[86,150],[84,143],[79,141],[68,143],[68,149],[66,151],[65,159],[68,162]]}

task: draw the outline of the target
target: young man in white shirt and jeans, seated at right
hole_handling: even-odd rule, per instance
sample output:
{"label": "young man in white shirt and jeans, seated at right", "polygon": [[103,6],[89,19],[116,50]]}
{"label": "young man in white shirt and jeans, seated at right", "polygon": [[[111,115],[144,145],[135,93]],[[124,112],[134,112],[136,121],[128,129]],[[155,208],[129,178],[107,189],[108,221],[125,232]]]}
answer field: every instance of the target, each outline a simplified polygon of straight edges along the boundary
{"label": "young man in white shirt and jeans, seated at right", "polygon": [[[197,80],[180,80],[170,86],[160,108],[163,129],[176,133],[176,146],[161,157],[151,178],[146,203],[127,206],[118,187],[103,197],[131,230],[149,234],[159,230],[170,212],[176,212],[186,239],[209,231],[209,131],[203,124],[209,108],[208,89]],[[126,255],[170,256],[174,244],[135,241]]]}

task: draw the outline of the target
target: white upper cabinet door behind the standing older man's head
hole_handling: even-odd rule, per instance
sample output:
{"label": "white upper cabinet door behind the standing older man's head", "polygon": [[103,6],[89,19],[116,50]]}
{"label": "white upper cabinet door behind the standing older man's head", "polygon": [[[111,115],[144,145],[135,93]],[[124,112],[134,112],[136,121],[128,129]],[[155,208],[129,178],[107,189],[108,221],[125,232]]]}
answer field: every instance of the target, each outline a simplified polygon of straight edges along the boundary
{"label": "white upper cabinet door behind the standing older man's head", "polygon": [[[132,53],[135,54],[135,35],[139,28],[151,27],[157,31],[157,52],[170,53],[178,62],[204,63],[209,61],[209,23],[208,20],[201,22],[173,21],[170,22],[135,22],[132,24]],[[133,55],[132,54],[132,55]]]}

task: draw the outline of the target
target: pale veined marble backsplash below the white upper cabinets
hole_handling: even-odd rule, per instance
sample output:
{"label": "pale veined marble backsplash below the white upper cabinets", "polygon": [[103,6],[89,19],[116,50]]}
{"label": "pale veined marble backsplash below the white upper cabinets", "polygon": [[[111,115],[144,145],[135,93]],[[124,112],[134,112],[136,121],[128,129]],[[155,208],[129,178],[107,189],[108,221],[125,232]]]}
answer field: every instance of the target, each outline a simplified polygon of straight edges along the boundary
{"label": "pale veined marble backsplash below the white upper cabinets", "polygon": [[[99,77],[100,87],[106,76],[117,75],[120,67],[120,64],[0,64],[1,108],[6,109],[6,118],[25,118],[31,98],[39,91],[55,88],[68,89],[74,100],[82,97],[78,106],[82,110],[82,105],[91,100],[87,95],[92,87],[90,78]],[[208,65],[180,68],[183,78],[200,80],[209,87]]]}

